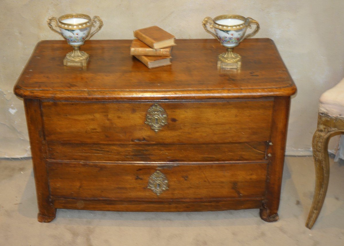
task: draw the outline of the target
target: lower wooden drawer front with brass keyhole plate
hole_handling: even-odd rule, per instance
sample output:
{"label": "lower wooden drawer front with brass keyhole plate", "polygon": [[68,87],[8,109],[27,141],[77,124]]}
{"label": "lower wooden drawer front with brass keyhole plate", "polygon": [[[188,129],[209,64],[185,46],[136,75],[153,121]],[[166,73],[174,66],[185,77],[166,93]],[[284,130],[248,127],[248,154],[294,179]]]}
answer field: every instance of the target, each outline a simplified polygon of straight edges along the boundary
{"label": "lower wooden drawer front with brass keyhole plate", "polygon": [[106,164],[48,162],[53,198],[207,200],[265,196],[267,162]]}

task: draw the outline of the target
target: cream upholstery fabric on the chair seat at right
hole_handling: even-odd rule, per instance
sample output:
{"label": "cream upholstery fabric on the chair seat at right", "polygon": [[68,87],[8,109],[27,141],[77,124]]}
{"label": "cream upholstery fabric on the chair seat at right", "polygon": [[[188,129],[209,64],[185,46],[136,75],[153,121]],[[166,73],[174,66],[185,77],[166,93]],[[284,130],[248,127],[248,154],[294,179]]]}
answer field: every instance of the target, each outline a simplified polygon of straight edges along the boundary
{"label": "cream upholstery fabric on the chair seat at right", "polygon": [[319,112],[344,118],[344,79],[320,96]]}

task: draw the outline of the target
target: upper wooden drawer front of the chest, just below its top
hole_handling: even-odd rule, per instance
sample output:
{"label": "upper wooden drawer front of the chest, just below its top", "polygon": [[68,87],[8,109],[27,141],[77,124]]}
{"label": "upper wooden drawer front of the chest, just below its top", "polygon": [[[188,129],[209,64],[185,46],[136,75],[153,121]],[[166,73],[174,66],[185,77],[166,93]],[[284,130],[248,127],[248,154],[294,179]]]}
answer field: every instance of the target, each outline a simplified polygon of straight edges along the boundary
{"label": "upper wooden drawer front of the chest, just below its top", "polygon": [[[84,143],[267,141],[272,108],[272,99],[157,103],[42,102],[48,142]],[[160,129],[152,128],[148,122]]]}

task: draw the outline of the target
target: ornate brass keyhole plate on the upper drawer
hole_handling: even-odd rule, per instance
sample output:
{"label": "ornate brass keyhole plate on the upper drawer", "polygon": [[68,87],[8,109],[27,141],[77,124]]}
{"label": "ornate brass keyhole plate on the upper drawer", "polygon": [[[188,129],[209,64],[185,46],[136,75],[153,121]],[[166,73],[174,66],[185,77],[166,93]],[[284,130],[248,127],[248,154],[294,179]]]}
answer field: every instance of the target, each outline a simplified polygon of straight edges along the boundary
{"label": "ornate brass keyhole plate on the upper drawer", "polygon": [[161,130],[164,125],[167,125],[166,111],[157,103],[147,110],[146,123],[155,132]]}

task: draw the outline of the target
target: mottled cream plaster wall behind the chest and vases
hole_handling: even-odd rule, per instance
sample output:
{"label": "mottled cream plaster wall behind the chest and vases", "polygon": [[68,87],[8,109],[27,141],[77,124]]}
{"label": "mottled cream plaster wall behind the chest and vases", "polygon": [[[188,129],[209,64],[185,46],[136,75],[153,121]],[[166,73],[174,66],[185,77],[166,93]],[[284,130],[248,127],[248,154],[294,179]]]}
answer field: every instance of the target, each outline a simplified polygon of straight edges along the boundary
{"label": "mottled cream plaster wall behind the chest and vases", "polygon": [[150,25],[177,38],[213,38],[201,25],[206,16],[254,18],[261,27],[255,37],[275,41],[298,87],[291,103],[288,154],[310,154],[318,98],[344,77],[342,0],[2,0],[0,11],[0,157],[30,155],[23,103],[12,88],[37,42],[62,39],[47,27],[50,15],[99,15],[104,27],[93,39],[131,39],[133,30]]}

